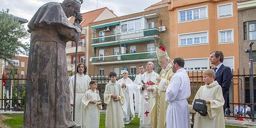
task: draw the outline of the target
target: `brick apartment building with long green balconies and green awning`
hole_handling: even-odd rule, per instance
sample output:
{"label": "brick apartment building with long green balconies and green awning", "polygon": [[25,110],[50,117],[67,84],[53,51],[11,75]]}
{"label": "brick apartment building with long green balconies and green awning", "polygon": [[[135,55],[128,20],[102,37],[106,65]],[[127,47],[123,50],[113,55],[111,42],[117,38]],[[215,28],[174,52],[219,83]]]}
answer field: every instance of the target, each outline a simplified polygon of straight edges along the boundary
{"label": "brick apartment building with long green balconies and green awning", "polygon": [[[167,4],[167,1],[166,1]],[[168,7],[133,13],[89,24],[89,75],[139,73],[139,66],[156,63],[155,48],[162,41],[169,47]]]}

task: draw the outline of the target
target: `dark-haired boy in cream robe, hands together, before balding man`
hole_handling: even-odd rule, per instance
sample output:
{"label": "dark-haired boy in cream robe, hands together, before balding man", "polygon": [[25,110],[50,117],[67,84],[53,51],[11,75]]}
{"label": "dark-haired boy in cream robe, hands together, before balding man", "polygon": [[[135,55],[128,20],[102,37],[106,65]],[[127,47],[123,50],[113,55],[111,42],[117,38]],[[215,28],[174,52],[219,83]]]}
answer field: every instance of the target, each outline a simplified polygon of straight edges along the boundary
{"label": "dark-haired boy in cream robe, hands together, before balding man", "polygon": [[121,84],[116,81],[116,73],[110,72],[110,81],[106,84],[104,102],[106,108],[106,128],[124,128],[123,110],[124,94]]}

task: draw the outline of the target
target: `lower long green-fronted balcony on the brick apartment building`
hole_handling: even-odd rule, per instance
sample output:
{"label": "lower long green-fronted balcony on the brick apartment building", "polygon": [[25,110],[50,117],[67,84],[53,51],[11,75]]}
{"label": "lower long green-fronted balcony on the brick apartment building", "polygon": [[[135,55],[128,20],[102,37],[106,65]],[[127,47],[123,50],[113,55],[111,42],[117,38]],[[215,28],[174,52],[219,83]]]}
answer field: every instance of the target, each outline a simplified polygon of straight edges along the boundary
{"label": "lower long green-fronted balcony on the brick apartment building", "polygon": [[102,56],[102,57],[91,57],[90,62],[92,65],[102,65],[102,64],[117,64],[124,62],[147,62],[156,61],[157,56],[155,51],[152,52],[142,52],[142,53],[127,53],[112,56]]}

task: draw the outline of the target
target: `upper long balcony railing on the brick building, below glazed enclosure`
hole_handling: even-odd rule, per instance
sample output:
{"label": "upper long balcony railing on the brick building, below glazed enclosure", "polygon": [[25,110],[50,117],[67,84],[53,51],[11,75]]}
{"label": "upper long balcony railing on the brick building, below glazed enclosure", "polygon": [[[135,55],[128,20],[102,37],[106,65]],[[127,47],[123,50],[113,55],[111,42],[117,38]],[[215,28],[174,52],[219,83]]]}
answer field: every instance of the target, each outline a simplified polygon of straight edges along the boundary
{"label": "upper long balcony railing on the brick building, below glazed enclosure", "polygon": [[115,35],[100,36],[100,37],[92,38],[92,44],[110,42],[110,41],[136,39],[136,38],[154,36],[154,35],[158,36],[157,28],[124,32],[124,33],[119,33]]}

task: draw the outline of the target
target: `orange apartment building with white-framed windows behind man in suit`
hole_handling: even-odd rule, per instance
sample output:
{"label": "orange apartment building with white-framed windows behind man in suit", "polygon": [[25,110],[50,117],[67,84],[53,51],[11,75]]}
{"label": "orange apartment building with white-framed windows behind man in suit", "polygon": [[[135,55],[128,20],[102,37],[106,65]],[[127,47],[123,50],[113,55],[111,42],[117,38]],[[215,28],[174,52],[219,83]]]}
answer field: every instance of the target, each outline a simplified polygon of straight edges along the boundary
{"label": "orange apartment building with white-framed windows behind man in suit", "polygon": [[[170,57],[183,57],[184,68],[194,72],[190,75],[200,75],[202,70],[213,67],[209,62],[210,52],[221,50],[224,53],[224,65],[229,66],[234,74],[237,74],[237,0],[169,0],[168,3]],[[234,83],[236,85],[230,86],[230,92],[234,89],[234,100],[238,100],[238,85],[236,81]],[[199,88],[200,83],[195,87]],[[191,93],[191,96],[195,93],[196,91]],[[233,98],[232,95],[233,93],[230,93],[230,99]]]}

